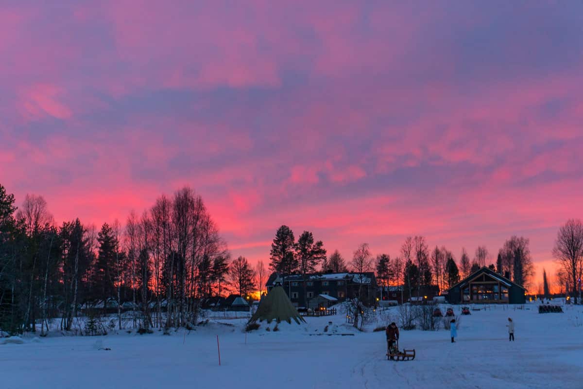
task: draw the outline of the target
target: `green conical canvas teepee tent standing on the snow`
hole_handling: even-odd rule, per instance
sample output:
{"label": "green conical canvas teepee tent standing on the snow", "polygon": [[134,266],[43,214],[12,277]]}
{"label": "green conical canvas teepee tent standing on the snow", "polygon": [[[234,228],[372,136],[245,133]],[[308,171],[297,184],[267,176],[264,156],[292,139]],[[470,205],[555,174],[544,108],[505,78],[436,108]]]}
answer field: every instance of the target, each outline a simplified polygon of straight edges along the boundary
{"label": "green conical canvas teepee tent standing on the snow", "polygon": [[257,312],[255,312],[249,321],[265,320],[267,323],[271,323],[272,320],[276,320],[276,323],[287,321],[287,323],[291,324],[291,319],[293,319],[297,324],[300,324],[300,320],[305,323],[304,318],[300,316],[297,309],[291,304],[285,290],[281,286],[281,282],[278,281],[279,278],[276,280],[275,286],[268,295],[261,299]]}

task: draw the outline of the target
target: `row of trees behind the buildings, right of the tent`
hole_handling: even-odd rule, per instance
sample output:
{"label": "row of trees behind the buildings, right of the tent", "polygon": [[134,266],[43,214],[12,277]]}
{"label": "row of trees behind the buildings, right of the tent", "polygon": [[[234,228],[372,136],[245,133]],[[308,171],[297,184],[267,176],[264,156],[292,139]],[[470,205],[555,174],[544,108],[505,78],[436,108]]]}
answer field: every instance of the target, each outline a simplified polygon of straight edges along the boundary
{"label": "row of trees behind the buildings, right of the tent", "polygon": [[[557,236],[553,255],[560,267],[557,282],[575,293],[581,279],[583,264],[583,227],[580,220],[569,220],[562,226]],[[279,227],[271,247],[272,271],[282,275],[299,274],[304,278],[312,272],[368,272],[374,271],[381,286],[402,285],[408,296],[419,296],[424,286],[436,285],[441,291],[451,288],[461,279],[488,267],[505,276],[525,289],[532,288],[535,275],[530,241],[526,237],[511,236],[498,250],[496,260],[485,246],[478,246],[473,257],[462,248],[459,260],[445,246],[429,248],[423,236],[406,237],[399,255],[391,258],[389,254],[370,252],[368,244],[361,244],[353,253],[352,261],[335,250],[326,257],[326,249],[321,240],[315,241],[313,234],[304,231],[297,242],[287,226]],[[578,246],[580,245],[580,246]],[[549,295],[549,281],[543,272],[541,291]],[[305,282],[304,282],[305,285]],[[304,286],[305,289],[305,286]],[[305,290],[304,290],[305,292]]]}

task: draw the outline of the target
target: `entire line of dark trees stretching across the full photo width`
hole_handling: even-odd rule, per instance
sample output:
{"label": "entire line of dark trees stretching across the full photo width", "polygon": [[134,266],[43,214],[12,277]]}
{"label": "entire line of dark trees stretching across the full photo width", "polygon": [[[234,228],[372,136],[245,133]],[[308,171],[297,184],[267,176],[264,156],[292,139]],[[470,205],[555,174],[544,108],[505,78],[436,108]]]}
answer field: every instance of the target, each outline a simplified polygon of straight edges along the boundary
{"label": "entire line of dark trees stretching across the full photo width", "polygon": [[[374,271],[382,286],[402,285],[409,296],[422,286],[445,290],[483,266],[519,285],[531,286],[534,269],[529,240],[512,236],[498,250],[496,263],[484,246],[459,261],[444,246],[429,248],[423,236],[407,237],[399,255],[373,257],[360,244],[347,263],[338,250],[327,257],[322,240],[304,231],[297,241],[281,226],[271,245],[269,270],[283,276],[313,272]],[[583,272],[583,226],[572,219],[560,227],[553,248],[557,283],[577,299]],[[263,292],[268,269],[245,257],[232,259],[203,199],[184,187],[161,195],[124,225],[115,220],[99,230],[79,219],[55,226],[47,202],[26,195],[22,205],[0,185],[0,330],[43,333],[58,318],[70,331],[80,310],[131,310],[132,327],[188,326],[196,322],[206,297]],[[549,290],[546,272],[544,286]],[[305,289],[305,282],[304,282]],[[304,290],[305,292],[305,290]],[[545,292],[546,293],[546,292]]]}

